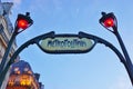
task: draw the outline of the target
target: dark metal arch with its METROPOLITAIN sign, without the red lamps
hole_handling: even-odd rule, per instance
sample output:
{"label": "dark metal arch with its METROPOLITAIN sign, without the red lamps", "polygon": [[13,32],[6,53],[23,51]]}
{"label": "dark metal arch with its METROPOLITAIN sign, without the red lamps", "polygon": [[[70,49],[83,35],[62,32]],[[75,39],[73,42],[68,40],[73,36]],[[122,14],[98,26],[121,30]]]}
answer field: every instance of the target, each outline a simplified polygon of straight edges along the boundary
{"label": "dark metal arch with its METROPOLITAIN sign, without the red lamps", "polygon": [[9,67],[14,62],[14,59],[19,56],[19,53],[25,49],[30,44],[37,44],[42,51],[47,53],[85,53],[91,51],[96,43],[102,43],[112,49],[116,56],[119,57],[120,61],[124,65],[131,81],[133,81],[133,77],[131,75],[131,71],[129,69],[129,65],[126,63],[126,60],[122,56],[122,53],[109,41],[99,38],[93,34],[89,34],[85,32],[79,32],[79,34],[55,34],[54,31],[51,31],[49,33],[44,33],[41,36],[38,36],[27,42],[24,42],[21,47],[18,48],[18,50],[13,53],[10,61],[8,62],[4,72],[2,73],[2,78],[4,78],[6,72],[8,71]]}

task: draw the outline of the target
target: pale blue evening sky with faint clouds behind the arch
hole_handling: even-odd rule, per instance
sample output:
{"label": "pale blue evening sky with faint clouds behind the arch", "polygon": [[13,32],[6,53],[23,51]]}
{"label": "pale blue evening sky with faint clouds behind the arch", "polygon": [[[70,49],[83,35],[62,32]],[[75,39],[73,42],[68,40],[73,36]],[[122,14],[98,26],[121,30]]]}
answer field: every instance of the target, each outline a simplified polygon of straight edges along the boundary
{"label": "pale blue evening sky with faint clouds behind the arch", "polygon": [[[30,12],[34,23],[17,37],[18,47],[25,41],[54,31],[79,31],[101,37],[121,48],[113,33],[100,23],[101,12],[114,12],[119,32],[133,61],[132,0],[2,0],[13,2],[11,21],[18,13]],[[121,51],[122,52],[122,51]],[[98,43],[88,53],[50,55],[35,44],[24,49],[20,57],[28,61],[45,89],[132,89],[129,75],[116,55]]]}

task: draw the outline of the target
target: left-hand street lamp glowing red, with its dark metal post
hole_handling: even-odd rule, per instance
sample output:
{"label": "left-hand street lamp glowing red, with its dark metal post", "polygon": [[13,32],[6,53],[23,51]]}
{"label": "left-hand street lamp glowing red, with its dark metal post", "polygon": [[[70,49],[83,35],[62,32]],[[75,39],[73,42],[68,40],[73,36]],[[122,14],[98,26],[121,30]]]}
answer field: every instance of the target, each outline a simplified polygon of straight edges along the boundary
{"label": "left-hand street lamp glowing red, with its dark metal post", "polygon": [[2,61],[0,63],[0,87],[2,85],[2,72],[8,63],[8,56],[10,53],[10,50],[12,48],[12,43],[14,42],[14,39],[17,37],[17,34],[19,34],[20,32],[22,32],[23,30],[25,30],[27,28],[29,28],[31,24],[33,23],[33,20],[30,18],[30,13],[27,12],[25,14],[18,14],[18,18],[16,20],[16,24],[14,24],[14,31],[11,36],[11,39],[9,40],[8,47],[6,49],[6,52],[3,55]]}

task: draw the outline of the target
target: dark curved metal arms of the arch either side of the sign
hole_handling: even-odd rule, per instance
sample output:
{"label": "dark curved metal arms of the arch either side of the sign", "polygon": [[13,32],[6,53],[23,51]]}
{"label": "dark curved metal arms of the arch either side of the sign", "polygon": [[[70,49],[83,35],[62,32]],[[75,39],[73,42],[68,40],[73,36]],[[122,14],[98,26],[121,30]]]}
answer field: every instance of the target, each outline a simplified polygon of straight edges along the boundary
{"label": "dark curved metal arms of the arch either side of the sign", "polygon": [[[38,36],[27,42],[24,42],[21,47],[18,48],[18,50],[13,53],[13,56],[11,57],[10,61],[8,62],[4,71],[2,72],[2,78],[4,78],[4,73],[8,71],[8,69],[10,68],[10,66],[14,62],[14,59],[19,56],[19,53],[25,49],[30,44],[33,44],[35,43],[37,46],[39,46],[39,41],[41,39],[44,39],[44,38],[52,38],[54,37],[54,31],[51,31],[51,32],[48,32],[48,33],[44,33],[44,34],[41,34],[41,36]],[[109,47],[110,49],[112,49],[116,56],[120,58],[120,61],[124,65],[124,67],[127,69],[127,65],[126,65],[126,61],[124,59],[124,57],[122,56],[122,53],[112,44],[110,43],[109,41],[100,38],[100,37],[96,37],[96,36],[93,36],[93,34],[89,34],[89,33],[85,33],[85,32],[82,32],[80,31],[79,32],[79,37],[80,38],[89,38],[89,39],[92,39],[94,40],[96,43],[103,43],[105,44],[106,47]],[[129,69],[127,69],[127,73],[129,73]],[[129,75],[130,76],[130,75]],[[131,78],[131,77],[130,77]]]}

